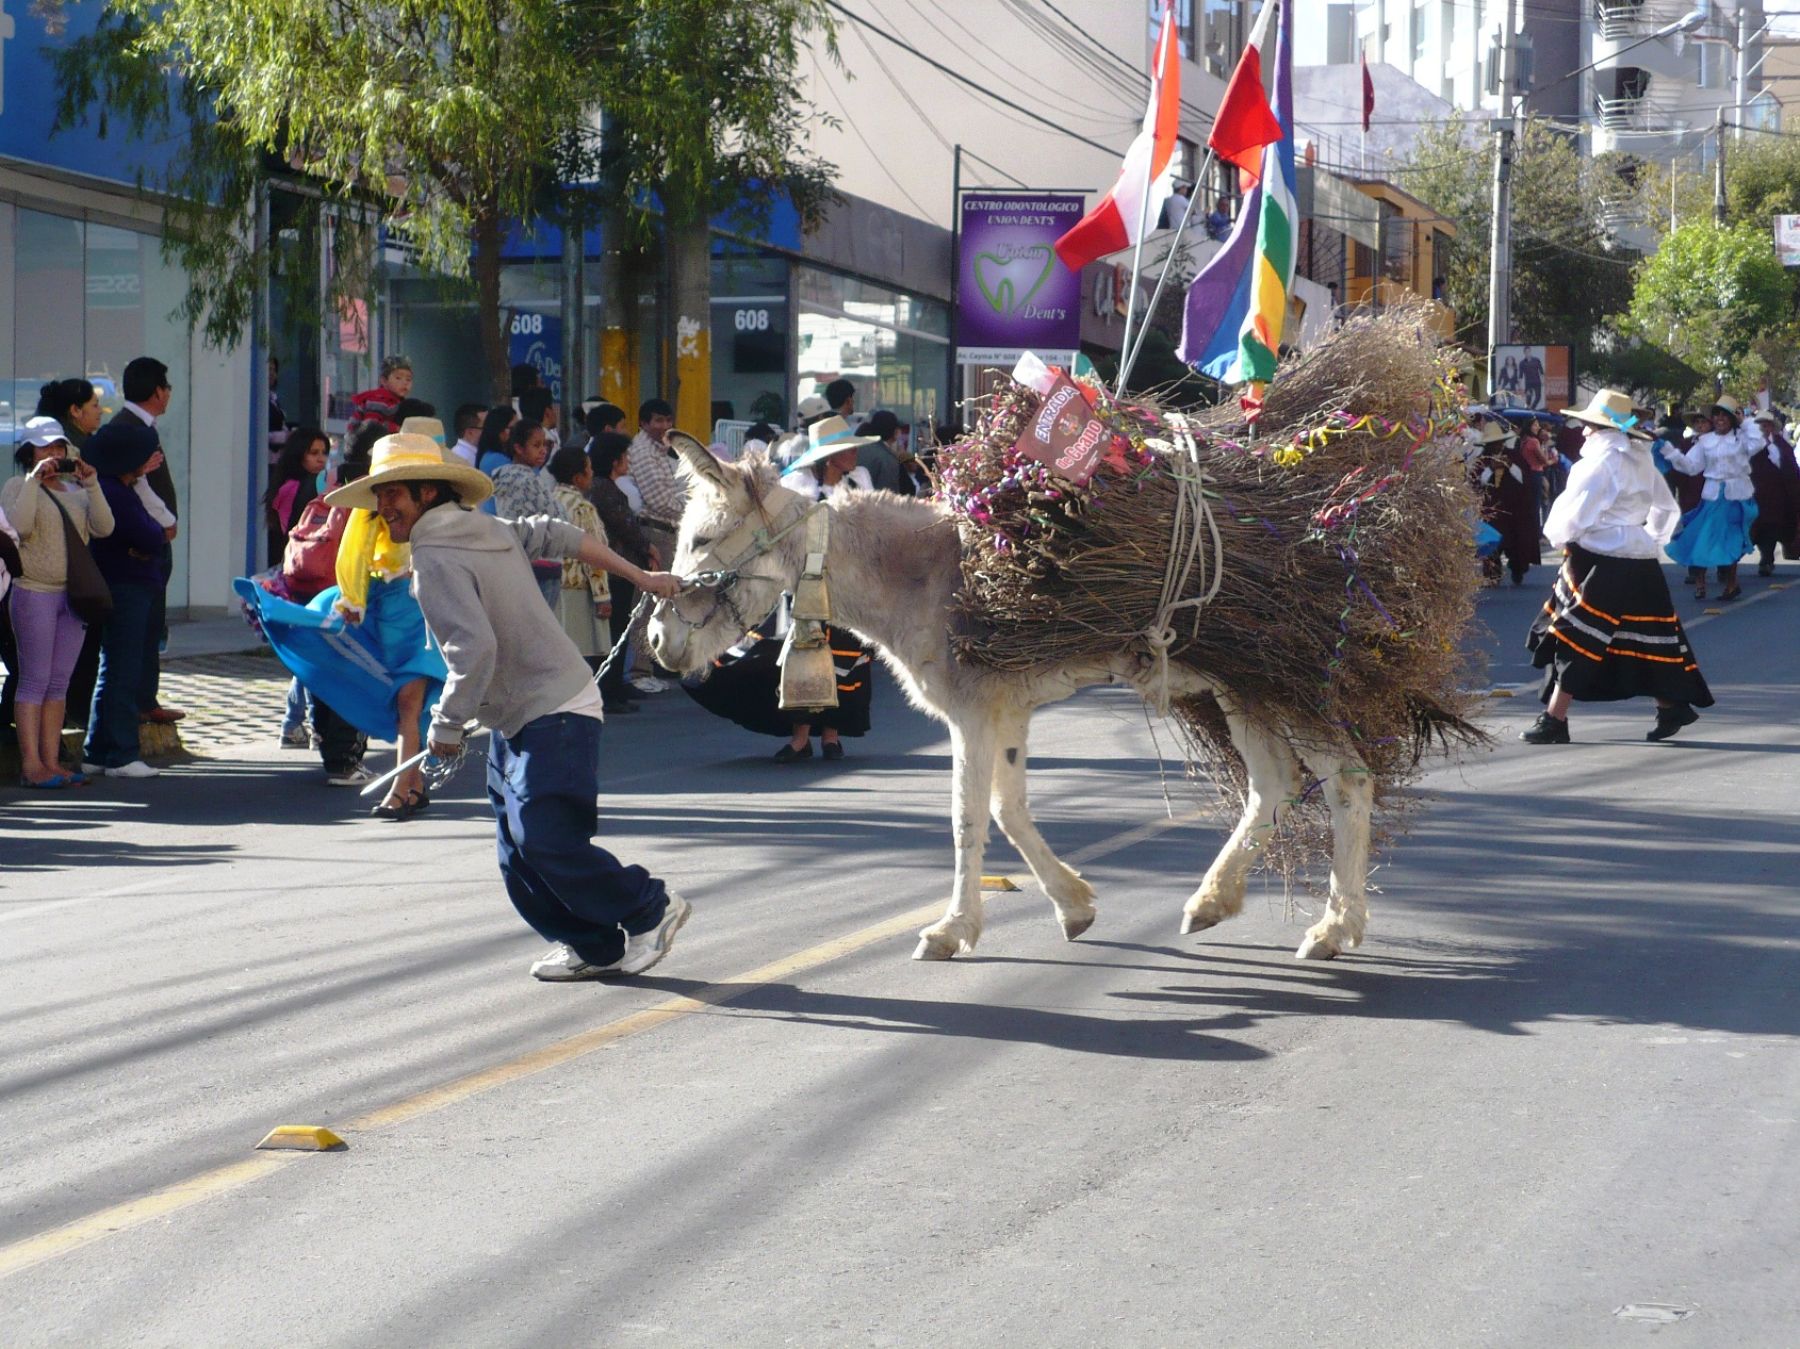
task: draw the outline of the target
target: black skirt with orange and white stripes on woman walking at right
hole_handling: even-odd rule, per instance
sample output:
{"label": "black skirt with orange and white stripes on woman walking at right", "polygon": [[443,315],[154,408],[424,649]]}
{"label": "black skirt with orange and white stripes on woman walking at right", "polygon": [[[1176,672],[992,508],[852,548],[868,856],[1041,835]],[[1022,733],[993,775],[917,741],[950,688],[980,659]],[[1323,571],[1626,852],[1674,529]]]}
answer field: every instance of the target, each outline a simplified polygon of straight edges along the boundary
{"label": "black skirt with orange and white stripes on woman walking at right", "polygon": [[1658,697],[1712,706],[1656,558],[1571,546],[1526,647],[1544,672],[1544,702],[1562,688],[1577,702]]}

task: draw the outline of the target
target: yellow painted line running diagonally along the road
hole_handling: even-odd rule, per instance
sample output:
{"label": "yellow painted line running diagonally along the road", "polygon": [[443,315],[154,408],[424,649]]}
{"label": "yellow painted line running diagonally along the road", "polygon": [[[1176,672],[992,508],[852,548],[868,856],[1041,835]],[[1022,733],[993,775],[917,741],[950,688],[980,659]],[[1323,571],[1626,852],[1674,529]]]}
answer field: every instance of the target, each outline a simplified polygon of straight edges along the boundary
{"label": "yellow painted line running diagonally along the road", "polygon": [[[1071,854],[1071,859],[1084,863],[1096,861],[1100,857],[1132,848],[1170,828],[1192,825],[1195,819],[1199,819],[1197,810],[1179,814],[1174,819],[1165,818],[1152,819],[1145,825],[1134,825],[1132,828],[1121,830],[1112,837],[1100,839],[1098,843]],[[630,1016],[608,1021],[603,1027],[594,1027],[592,1030],[583,1030],[578,1036],[569,1036],[567,1039],[560,1039],[553,1045],[544,1045],[542,1048],[522,1054],[508,1063],[482,1068],[481,1072],[466,1073],[463,1077],[454,1077],[439,1086],[425,1088],[423,1091],[405,1097],[403,1100],[380,1106],[371,1109],[367,1115],[358,1115],[349,1120],[349,1124],[342,1126],[338,1133],[371,1133],[374,1129],[407,1124],[409,1120],[430,1115],[432,1111],[468,1100],[482,1091],[491,1091],[506,1082],[517,1082],[520,1077],[531,1077],[533,1073],[540,1073],[547,1068],[572,1063],[574,1059],[581,1059],[596,1050],[617,1045],[628,1036],[655,1030],[662,1023],[673,1021],[675,1018],[704,1012],[709,1007],[722,1007],[779,980],[792,978],[794,974],[801,974],[808,969],[855,955],[866,946],[875,946],[889,937],[898,937],[913,928],[918,928],[920,924],[931,922],[941,910],[941,902],[925,904],[893,919],[886,919],[884,922],[859,928],[844,937],[835,937],[830,942],[808,946],[805,951],[796,951],[781,960],[758,965],[756,969],[736,974],[724,983],[711,983],[691,996],[668,998],[655,1007],[646,1007],[641,1012],[632,1012]],[[68,1252],[79,1250],[94,1241],[117,1236],[119,1232],[128,1232],[133,1227],[155,1221],[157,1218],[167,1218],[182,1209],[191,1209],[193,1205],[214,1196],[250,1185],[252,1182],[274,1174],[281,1167],[293,1165],[301,1156],[306,1154],[263,1153],[247,1162],[230,1162],[227,1165],[214,1167],[212,1171],[202,1171],[196,1176],[178,1180],[173,1185],[164,1185],[162,1189],[151,1191],[137,1200],[126,1200],[124,1203],[101,1209],[99,1212],[77,1218],[63,1227],[40,1232],[34,1237],[25,1237],[23,1241],[0,1246],[0,1279],[18,1273],[20,1270],[29,1270],[32,1264],[56,1259],[58,1255],[67,1255]]]}

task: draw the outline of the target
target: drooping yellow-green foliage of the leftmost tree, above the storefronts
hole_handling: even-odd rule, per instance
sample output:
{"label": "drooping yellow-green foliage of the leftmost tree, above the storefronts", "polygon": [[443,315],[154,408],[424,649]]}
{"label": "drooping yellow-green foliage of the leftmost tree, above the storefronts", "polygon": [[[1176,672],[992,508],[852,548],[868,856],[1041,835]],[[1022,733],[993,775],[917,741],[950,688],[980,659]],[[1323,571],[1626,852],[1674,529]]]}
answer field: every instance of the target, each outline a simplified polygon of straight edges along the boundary
{"label": "drooping yellow-green foliage of the leftmost tree, above the storefronts", "polygon": [[[592,81],[567,59],[578,14],[556,0],[110,0],[58,58],[61,112],[184,133],[148,186],[173,202],[187,313],[209,339],[245,330],[270,268],[259,193],[290,180],[315,225],[382,225],[430,270],[473,267],[502,393],[504,223],[592,149]],[[356,290],[367,276],[349,265],[326,312]]]}

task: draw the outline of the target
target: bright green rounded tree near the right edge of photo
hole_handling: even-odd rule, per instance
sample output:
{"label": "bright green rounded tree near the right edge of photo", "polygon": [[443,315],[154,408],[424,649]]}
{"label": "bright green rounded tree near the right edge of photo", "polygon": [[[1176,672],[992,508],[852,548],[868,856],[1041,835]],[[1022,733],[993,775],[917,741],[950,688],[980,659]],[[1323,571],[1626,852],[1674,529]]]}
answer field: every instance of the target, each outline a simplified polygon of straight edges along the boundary
{"label": "bright green rounded tree near the right edge of photo", "polygon": [[[1766,346],[1793,322],[1795,283],[1768,229],[1696,220],[1636,268],[1629,331],[1732,387],[1782,371]],[[1760,349],[1759,349],[1760,348]]]}

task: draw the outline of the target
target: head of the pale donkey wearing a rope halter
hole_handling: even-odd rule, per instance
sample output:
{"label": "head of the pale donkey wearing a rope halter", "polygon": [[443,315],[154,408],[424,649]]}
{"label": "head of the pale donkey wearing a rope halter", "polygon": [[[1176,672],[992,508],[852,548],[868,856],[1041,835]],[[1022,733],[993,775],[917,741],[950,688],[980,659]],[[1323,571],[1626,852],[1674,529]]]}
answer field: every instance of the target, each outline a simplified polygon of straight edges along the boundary
{"label": "head of the pale donkey wearing a rope halter", "polygon": [[803,562],[799,521],[812,502],[781,486],[760,454],[731,465],[679,430],[670,432],[670,443],[688,481],[688,510],[675,557],[664,566],[704,584],[655,607],[650,648],[668,668],[693,674],[794,589]]}

